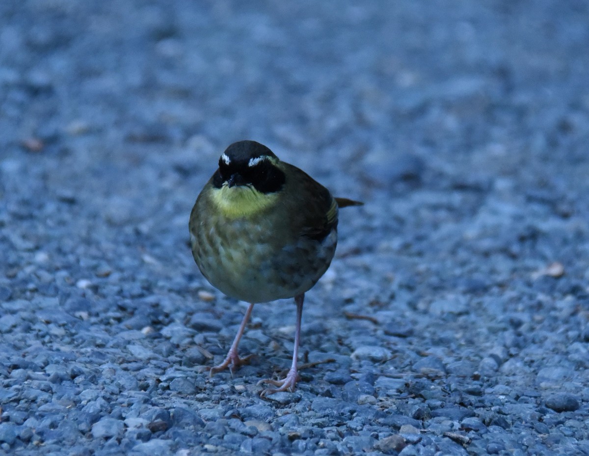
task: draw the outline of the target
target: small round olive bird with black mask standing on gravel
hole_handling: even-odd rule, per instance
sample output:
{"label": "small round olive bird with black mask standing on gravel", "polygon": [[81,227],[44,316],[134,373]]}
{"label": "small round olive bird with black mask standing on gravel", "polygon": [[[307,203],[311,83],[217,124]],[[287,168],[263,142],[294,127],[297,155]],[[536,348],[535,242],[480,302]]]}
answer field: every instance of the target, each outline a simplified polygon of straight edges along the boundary
{"label": "small round olive bird with black mask standing on gravel", "polygon": [[237,346],[256,303],[294,298],[292,366],[285,378],[265,379],[294,391],[305,292],[329,267],[337,244],[337,209],[358,201],[334,198],[299,168],[256,141],[231,144],[190,213],[190,242],[204,277],[221,292],[250,305],[221,364],[210,375],[246,363]]}

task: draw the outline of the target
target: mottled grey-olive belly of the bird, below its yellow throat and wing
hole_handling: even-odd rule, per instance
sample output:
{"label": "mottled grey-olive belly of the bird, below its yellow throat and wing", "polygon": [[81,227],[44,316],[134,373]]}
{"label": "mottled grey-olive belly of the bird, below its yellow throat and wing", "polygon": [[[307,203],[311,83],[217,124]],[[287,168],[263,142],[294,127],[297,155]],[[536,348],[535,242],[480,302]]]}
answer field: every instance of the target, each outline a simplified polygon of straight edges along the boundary
{"label": "mottled grey-olive belly of the bird, below its yellow throat and wing", "polygon": [[334,229],[322,242],[299,237],[269,239],[267,230],[244,220],[197,221],[191,232],[194,260],[211,285],[232,298],[267,302],[309,290],[335,253]]}

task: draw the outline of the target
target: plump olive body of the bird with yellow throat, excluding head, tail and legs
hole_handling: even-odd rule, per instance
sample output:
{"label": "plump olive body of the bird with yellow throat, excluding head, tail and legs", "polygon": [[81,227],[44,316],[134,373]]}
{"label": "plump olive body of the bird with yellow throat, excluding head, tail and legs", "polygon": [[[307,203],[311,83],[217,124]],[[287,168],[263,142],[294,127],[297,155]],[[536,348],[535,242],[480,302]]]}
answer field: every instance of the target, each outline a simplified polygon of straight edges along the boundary
{"label": "plump olive body of the bird with yellow throat, excluding head, tail and legs", "polygon": [[209,181],[194,204],[194,260],[211,285],[233,298],[267,302],[304,293],[335,253],[337,207],[329,191],[280,165],[287,167],[280,192],[230,193],[250,190],[216,189]]}

